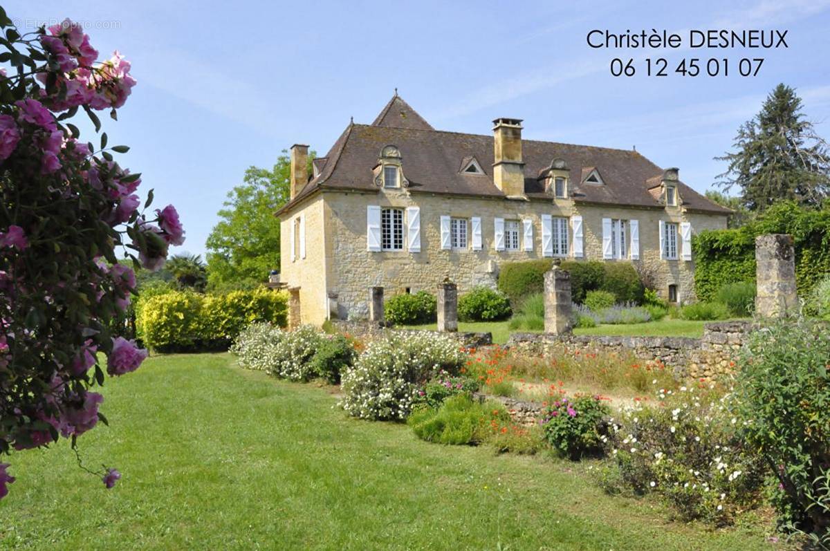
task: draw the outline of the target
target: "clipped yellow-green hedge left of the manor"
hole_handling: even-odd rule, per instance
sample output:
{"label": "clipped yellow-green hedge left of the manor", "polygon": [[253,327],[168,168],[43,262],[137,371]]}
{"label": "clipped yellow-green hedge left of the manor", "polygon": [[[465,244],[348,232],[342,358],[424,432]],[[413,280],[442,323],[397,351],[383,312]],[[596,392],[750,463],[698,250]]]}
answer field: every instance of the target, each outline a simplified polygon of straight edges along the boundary
{"label": "clipped yellow-green hedge left of the manor", "polygon": [[144,345],[161,352],[227,349],[249,324],[285,326],[286,293],[266,289],[221,295],[171,291],[142,304],[135,320]]}

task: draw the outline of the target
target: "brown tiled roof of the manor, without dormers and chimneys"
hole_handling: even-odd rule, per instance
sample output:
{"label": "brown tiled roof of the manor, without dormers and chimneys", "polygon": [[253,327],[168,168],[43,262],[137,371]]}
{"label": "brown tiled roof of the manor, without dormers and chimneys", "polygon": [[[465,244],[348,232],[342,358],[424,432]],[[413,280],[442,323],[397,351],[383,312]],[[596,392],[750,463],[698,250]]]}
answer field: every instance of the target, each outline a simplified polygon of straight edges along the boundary
{"label": "brown tiled roof of the manor, without dormers and chimneys", "polygon": [[[320,173],[277,214],[321,188],[377,190],[372,169],[386,145],[400,150],[403,174],[412,193],[505,197],[493,183],[492,135],[433,129],[396,93],[372,124],[349,124],[325,156]],[[471,157],[478,160],[489,178],[459,171],[459,164]],[[554,158],[560,158],[569,168],[569,192],[574,202],[663,207],[649,192],[655,181],[659,184],[663,169],[637,151],[523,139],[522,157],[525,195],[530,199],[551,199],[538,177]],[[582,183],[583,176],[593,168],[602,174],[603,184]],[[683,207],[723,215],[731,212],[682,182],[677,188]]]}

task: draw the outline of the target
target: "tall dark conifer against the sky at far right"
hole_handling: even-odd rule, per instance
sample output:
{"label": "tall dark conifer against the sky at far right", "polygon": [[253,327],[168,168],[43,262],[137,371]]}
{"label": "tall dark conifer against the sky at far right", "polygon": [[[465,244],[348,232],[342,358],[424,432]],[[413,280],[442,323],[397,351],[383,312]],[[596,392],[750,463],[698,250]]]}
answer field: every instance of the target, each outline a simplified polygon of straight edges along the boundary
{"label": "tall dark conifer against the sky at far right", "polygon": [[817,206],[830,195],[828,147],[801,107],[795,90],[779,84],[759,114],[738,129],[736,151],[716,158],[729,163],[717,184],[726,191],[740,188],[749,210],[763,211],[782,199]]}

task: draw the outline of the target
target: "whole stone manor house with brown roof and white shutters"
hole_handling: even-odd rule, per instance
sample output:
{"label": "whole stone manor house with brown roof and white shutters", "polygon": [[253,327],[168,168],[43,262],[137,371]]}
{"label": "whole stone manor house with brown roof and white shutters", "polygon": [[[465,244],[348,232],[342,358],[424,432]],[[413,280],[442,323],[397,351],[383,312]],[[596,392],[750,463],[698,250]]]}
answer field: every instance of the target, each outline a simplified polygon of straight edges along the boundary
{"label": "whole stone manor house with brown roof and white shutters", "polygon": [[637,151],[523,140],[519,119],[491,135],[433,129],[397,93],[372,124],[349,124],[306,173],[291,148],[281,283],[302,323],[362,319],[386,296],[449,278],[459,294],[495,287],[505,262],[630,261],[672,302],[694,299],[691,236],[729,209]]}

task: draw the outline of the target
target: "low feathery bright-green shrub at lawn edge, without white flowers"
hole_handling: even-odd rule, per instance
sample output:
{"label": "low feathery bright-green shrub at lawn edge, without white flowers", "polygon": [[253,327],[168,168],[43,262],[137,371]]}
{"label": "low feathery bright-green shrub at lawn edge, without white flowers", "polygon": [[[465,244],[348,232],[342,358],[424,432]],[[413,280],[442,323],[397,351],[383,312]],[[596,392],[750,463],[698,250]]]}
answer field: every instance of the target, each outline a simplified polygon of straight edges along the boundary
{"label": "low feathery bright-green shrub at lawn edge, without white flowers", "polygon": [[407,424],[422,440],[438,444],[480,444],[491,423],[510,422],[499,402],[477,402],[469,393],[448,397],[440,407],[416,407]]}

